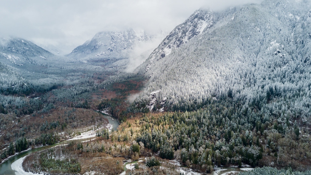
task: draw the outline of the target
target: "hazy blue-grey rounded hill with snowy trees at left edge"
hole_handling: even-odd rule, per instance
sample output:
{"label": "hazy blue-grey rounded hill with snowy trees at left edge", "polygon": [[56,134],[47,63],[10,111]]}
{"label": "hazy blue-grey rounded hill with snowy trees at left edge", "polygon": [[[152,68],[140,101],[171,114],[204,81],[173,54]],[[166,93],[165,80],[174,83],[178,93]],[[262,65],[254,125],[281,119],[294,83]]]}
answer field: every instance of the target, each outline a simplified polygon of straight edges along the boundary
{"label": "hazy blue-grey rounded hill with snowy trees at left edge", "polygon": [[11,38],[0,43],[1,92],[49,89],[63,84],[65,68],[72,67],[68,58],[56,56],[28,40]]}

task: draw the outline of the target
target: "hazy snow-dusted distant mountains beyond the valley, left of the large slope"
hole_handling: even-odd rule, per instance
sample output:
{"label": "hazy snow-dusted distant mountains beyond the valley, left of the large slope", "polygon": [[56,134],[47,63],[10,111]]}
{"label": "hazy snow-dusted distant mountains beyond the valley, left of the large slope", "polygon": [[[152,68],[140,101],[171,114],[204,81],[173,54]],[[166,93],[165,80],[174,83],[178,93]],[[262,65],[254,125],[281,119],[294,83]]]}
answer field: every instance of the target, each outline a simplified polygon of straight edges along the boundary
{"label": "hazy snow-dusted distant mountains beyond the valley, left of the large slope", "polygon": [[[81,71],[86,74],[100,72],[102,78],[107,79],[108,75],[126,71],[133,62],[130,58],[136,54],[133,54],[135,49],[141,49],[139,47],[142,44],[150,43],[154,38],[155,36],[148,36],[144,31],[135,32],[132,29],[99,32],[92,40],[78,46],[66,56],[55,55],[22,38],[2,39],[0,42],[2,91],[8,91],[12,87],[19,87],[19,90],[14,92],[25,91],[21,90],[21,87],[29,89],[29,83],[32,86],[49,84],[47,87],[54,86],[53,84],[61,85],[69,81],[67,76],[73,75],[81,79],[81,73],[76,74]],[[151,51],[141,49],[138,56],[146,53],[149,55]],[[143,57],[143,60],[147,58]]]}

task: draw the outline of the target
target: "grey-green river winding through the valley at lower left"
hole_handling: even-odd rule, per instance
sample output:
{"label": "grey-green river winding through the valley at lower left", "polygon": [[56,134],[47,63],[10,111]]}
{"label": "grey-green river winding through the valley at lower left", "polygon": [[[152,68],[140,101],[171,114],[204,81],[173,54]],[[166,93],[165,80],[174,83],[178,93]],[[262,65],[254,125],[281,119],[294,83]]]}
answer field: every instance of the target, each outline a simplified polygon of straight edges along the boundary
{"label": "grey-green river winding through the valley at lower left", "polygon": [[[102,113],[101,113],[102,114]],[[118,120],[112,116],[109,116],[109,115],[106,115],[106,114],[102,114],[106,119],[108,119],[109,121],[109,124],[112,125],[113,129],[114,130],[117,130],[118,129],[118,126],[120,125]],[[86,140],[89,140],[86,139]],[[67,140],[65,141],[62,141],[60,143],[57,143],[57,144],[53,144],[53,145],[47,145],[47,146],[43,146],[43,147],[39,147],[39,148],[35,148],[35,149],[30,149],[28,151],[25,151],[23,153],[20,153],[20,154],[16,154],[15,156],[9,158],[8,160],[6,160],[5,162],[3,162],[1,165],[0,165],[0,175],[15,175],[15,171],[12,170],[11,168],[11,164],[13,162],[15,162],[16,160],[18,160],[19,158],[22,158],[22,157],[25,157],[26,155],[29,155],[29,154],[32,154],[32,153],[35,153],[35,152],[38,152],[38,151],[41,151],[41,150],[44,150],[44,149],[49,149],[49,148],[52,148],[58,144],[63,144],[65,143]]]}

